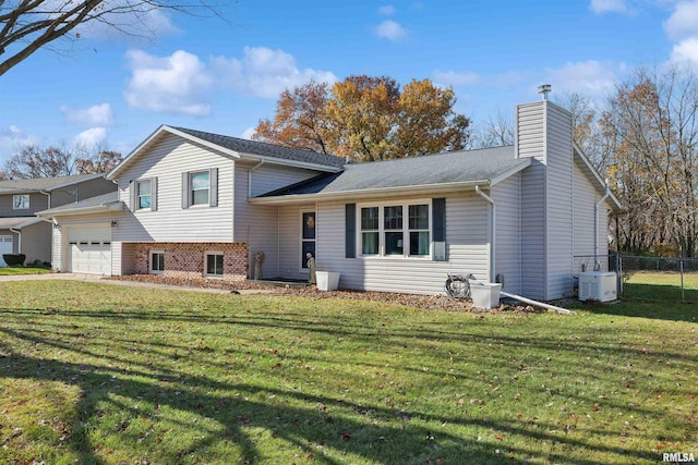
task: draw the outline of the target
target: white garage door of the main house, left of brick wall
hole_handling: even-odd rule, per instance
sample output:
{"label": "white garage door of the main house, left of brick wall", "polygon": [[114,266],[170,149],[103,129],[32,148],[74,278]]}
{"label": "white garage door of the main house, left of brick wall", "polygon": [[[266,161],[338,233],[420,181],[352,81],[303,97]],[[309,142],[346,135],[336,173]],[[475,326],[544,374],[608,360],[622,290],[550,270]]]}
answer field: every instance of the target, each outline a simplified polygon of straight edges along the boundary
{"label": "white garage door of the main house, left of brick wall", "polygon": [[68,271],[111,274],[111,228],[109,224],[70,228]]}

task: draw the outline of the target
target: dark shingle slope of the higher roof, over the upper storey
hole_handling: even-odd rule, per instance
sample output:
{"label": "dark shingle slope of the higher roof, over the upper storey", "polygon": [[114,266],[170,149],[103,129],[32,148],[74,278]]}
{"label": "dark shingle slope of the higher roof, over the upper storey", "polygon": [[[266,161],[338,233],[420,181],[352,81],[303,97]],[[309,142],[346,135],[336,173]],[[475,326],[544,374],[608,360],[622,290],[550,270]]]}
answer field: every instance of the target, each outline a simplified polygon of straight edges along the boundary
{"label": "dark shingle slope of the higher roof, over the upper storey", "polygon": [[281,147],[257,140],[248,140],[238,137],[224,136],[220,134],[205,133],[203,131],[188,130],[185,127],[174,127],[177,131],[186,133],[193,137],[207,140],[230,150],[243,154],[262,155],[265,157],[279,158],[284,160],[301,161],[304,163],[323,164],[333,168],[341,168],[345,159],[332,155],[318,154],[311,150],[299,150],[296,148]]}

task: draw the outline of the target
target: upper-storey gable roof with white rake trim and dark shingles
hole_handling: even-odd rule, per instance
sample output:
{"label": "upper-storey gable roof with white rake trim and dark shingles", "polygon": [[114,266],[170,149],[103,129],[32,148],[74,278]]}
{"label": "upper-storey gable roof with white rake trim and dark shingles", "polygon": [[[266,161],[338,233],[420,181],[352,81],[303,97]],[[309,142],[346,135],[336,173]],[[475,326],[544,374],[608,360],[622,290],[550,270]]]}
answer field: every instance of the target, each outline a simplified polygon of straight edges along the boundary
{"label": "upper-storey gable roof with white rake trim and dark shingles", "polygon": [[337,172],[345,164],[345,159],[333,155],[318,154],[311,150],[300,150],[296,148],[282,147],[274,144],[266,144],[258,140],[248,140],[239,137],[225,136],[221,134],[206,133],[203,131],[190,130],[161,125],[145,140],[143,140],[131,154],[129,154],[113,170],[107,174],[108,180],[113,180],[131,161],[145,151],[152,144],[158,140],[164,134],[173,134],[197,145],[203,145],[212,150],[225,154],[232,158],[249,158],[252,160],[264,160],[269,163],[288,164],[301,168],[311,168],[318,171]]}

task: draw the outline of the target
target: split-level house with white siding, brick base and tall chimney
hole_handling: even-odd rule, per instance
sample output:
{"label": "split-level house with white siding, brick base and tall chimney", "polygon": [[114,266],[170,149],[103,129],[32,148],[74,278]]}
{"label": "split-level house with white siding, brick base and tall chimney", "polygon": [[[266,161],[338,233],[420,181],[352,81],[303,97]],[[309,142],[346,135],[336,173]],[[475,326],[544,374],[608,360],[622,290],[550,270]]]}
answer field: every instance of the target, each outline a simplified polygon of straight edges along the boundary
{"label": "split-level house with white siding, brick base and tall chimney", "polygon": [[[348,289],[442,293],[447,272],[532,298],[571,295],[578,256],[606,255],[618,209],[581,150],[571,115],[516,109],[516,144],[364,164],[161,126],[107,179],[118,197],[41,212],[57,223],[53,266],[105,274],[304,279],[305,253]],[[99,264],[97,264],[99,261]],[[71,265],[73,264],[73,265]]]}

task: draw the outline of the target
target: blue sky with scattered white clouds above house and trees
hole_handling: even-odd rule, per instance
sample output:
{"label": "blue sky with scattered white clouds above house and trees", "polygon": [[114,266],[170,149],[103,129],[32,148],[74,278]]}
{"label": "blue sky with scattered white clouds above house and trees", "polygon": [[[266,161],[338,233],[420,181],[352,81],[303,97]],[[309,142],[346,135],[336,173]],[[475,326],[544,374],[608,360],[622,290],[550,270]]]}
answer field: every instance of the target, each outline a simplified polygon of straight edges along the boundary
{"label": "blue sky with scattered white clouds above house and trees", "polygon": [[477,126],[512,118],[543,83],[553,99],[602,101],[639,64],[698,64],[698,0],[241,0],[221,12],[152,14],[147,40],[83,28],[0,76],[0,164],[27,143],[127,155],[160,124],[248,137],[310,78],[431,78]]}

